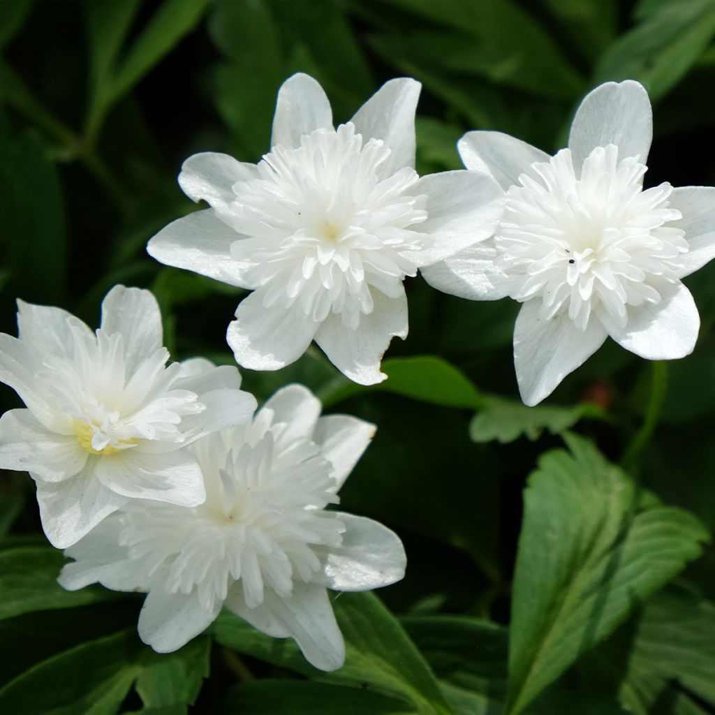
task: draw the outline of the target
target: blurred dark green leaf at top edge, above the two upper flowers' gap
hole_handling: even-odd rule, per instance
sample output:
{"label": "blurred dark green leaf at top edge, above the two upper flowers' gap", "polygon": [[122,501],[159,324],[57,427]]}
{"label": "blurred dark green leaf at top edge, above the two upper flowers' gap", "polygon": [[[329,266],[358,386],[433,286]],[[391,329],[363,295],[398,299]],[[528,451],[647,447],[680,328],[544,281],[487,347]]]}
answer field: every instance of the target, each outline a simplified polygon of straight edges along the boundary
{"label": "blurred dark green leaf at top edge, above the two upper flowers' gap", "polygon": [[[548,31],[511,0],[390,0],[450,33],[409,31],[420,54],[446,69],[481,74],[540,96],[573,99],[583,82]],[[379,11],[379,10],[378,10]]]}

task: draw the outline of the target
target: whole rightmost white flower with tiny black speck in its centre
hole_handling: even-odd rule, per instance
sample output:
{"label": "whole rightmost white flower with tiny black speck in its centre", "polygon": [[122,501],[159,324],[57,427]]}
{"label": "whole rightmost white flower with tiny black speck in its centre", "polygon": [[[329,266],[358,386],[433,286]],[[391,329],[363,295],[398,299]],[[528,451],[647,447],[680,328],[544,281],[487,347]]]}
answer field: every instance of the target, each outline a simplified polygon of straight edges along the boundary
{"label": "whole rightmost white flower with tiny black speck in its centre", "polygon": [[715,189],[644,189],[652,133],[648,94],[628,80],[583,99],[555,157],[499,132],[460,139],[465,166],[506,189],[503,220],[425,278],[472,300],[523,303],[514,362],[527,405],[608,335],[649,360],[694,348],[700,319],[681,279],[715,256]]}

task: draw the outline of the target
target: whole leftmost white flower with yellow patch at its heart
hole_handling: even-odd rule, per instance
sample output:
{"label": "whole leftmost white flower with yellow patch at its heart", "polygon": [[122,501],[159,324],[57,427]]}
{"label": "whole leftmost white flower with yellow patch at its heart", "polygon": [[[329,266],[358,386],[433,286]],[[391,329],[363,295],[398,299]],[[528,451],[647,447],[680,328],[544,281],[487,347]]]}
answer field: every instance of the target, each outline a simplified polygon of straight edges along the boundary
{"label": "whole leftmost white flower with yellow patch at its heart", "polygon": [[56,307],[18,301],[19,338],[0,333],[0,380],[27,409],[0,419],[0,468],[36,481],[42,526],[71,546],[132,498],[205,498],[197,438],[255,409],[240,375],[197,358],[165,365],[154,296],[117,285],[95,335]]}

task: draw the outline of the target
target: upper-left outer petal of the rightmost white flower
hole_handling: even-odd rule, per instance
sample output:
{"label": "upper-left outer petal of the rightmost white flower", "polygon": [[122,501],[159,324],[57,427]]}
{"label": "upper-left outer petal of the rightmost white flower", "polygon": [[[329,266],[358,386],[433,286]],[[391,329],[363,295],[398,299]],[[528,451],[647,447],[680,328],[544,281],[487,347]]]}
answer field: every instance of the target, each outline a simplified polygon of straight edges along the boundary
{"label": "upper-left outer petal of the rightmost white flower", "polygon": [[457,149],[465,167],[489,174],[505,191],[518,184],[519,175],[531,164],[551,159],[541,149],[501,132],[467,132]]}

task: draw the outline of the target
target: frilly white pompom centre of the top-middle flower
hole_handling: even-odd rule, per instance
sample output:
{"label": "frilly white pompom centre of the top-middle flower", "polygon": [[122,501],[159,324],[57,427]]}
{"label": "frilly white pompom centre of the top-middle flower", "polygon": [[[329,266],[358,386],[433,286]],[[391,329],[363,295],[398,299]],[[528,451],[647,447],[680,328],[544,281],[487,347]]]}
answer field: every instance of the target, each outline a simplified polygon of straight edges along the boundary
{"label": "frilly white pompom centre of the top-middle flower", "polygon": [[352,124],[316,129],[300,147],[274,147],[258,164],[259,178],[234,184],[230,213],[247,236],[232,257],[252,265],[247,282],[269,286],[266,307],[298,302],[313,320],[342,313],[357,327],[373,311],[370,289],[400,292],[416,267],[403,252],[420,250],[426,197],[412,194],[418,174],[409,167],[385,176],[390,149],[363,143]]}

